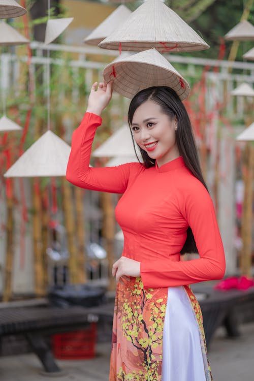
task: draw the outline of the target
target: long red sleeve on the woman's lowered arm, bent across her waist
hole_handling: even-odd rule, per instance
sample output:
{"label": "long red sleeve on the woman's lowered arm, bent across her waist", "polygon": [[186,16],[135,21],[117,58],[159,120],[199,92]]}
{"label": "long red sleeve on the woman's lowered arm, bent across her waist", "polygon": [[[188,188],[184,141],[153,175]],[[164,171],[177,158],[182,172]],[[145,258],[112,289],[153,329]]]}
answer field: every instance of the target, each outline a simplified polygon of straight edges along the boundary
{"label": "long red sleeve on the woman's lowered arm, bent across her waist", "polygon": [[146,288],[177,286],[224,276],[224,248],[207,190],[196,182],[188,189],[184,201],[182,215],[192,228],[200,258],[182,262],[164,259],[142,262],[141,276]]}

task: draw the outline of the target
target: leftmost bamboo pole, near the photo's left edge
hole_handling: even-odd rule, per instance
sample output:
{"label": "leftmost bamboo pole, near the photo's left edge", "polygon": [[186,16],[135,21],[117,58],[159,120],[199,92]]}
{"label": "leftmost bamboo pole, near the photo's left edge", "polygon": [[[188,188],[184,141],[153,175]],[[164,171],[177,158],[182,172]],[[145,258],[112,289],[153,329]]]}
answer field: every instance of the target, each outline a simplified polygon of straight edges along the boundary
{"label": "leftmost bamboo pole, near the photo's left edge", "polygon": [[7,197],[7,225],[6,225],[6,260],[5,260],[5,277],[4,277],[4,290],[3,301],[9,302],[12,297],[12,272],[14,260],[14,247],[13,247],[13,198]]}

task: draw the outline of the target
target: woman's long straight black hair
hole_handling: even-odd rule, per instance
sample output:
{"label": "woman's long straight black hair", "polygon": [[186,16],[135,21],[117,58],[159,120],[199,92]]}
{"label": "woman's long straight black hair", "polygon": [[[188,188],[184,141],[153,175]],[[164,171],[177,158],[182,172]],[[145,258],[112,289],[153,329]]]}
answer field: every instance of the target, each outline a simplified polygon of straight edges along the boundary
{"label": "woman's long straight black hair", "polygon": [[[170,117],[171,120],[176,118],[176,144],[180,155],[183,158],[185,166],[188,170],[206,187],[205,180],[202,175],[198,149],[193,135],[192,125],[190,123],[187,111],[178,97],[177,93],[167,86],[153,86],[139,91],[132,99],[128,120],[129,125],[132,124],[133,115],[137,108],[146,101],[153,101],[161,106],[162,112]],[[133,136],[132,136],[133,139]],[[144,166],[146,168],[155,165],[155,160],[150,158],[146,151],[140,148]],[[181,249],[181,254],[185,252],[198,252],[193,232],[187,229],[187,238]]]}

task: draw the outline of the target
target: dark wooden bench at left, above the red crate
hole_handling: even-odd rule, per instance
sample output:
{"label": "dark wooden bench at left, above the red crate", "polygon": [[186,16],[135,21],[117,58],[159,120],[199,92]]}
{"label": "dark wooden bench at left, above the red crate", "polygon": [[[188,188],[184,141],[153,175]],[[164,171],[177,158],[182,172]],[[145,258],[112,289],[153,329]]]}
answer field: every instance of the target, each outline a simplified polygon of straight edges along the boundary
{"label": "dark wooden bench at left, above the red crate", "polygon": [[[113,308],[113,306],[111,306]],[[24,335],[46,373],[60,372],[45,339],[46,335],[86,328],[90,322],[112,321],[113,311],[100,307],[13,307],[0,310],[0,339]]]}

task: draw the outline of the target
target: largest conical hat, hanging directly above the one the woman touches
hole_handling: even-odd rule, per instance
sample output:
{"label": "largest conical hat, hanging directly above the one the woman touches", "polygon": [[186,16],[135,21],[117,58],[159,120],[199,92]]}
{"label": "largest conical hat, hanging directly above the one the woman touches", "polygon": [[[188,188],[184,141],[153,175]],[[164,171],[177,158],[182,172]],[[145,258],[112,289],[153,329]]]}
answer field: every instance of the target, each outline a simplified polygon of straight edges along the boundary
{"label": "largest conical hat, hanging directly above the one the woman touches", "polygon": [[208,49],[209,45],[161,0],[147,0],[99,46],[105,49],[160,52]]}

